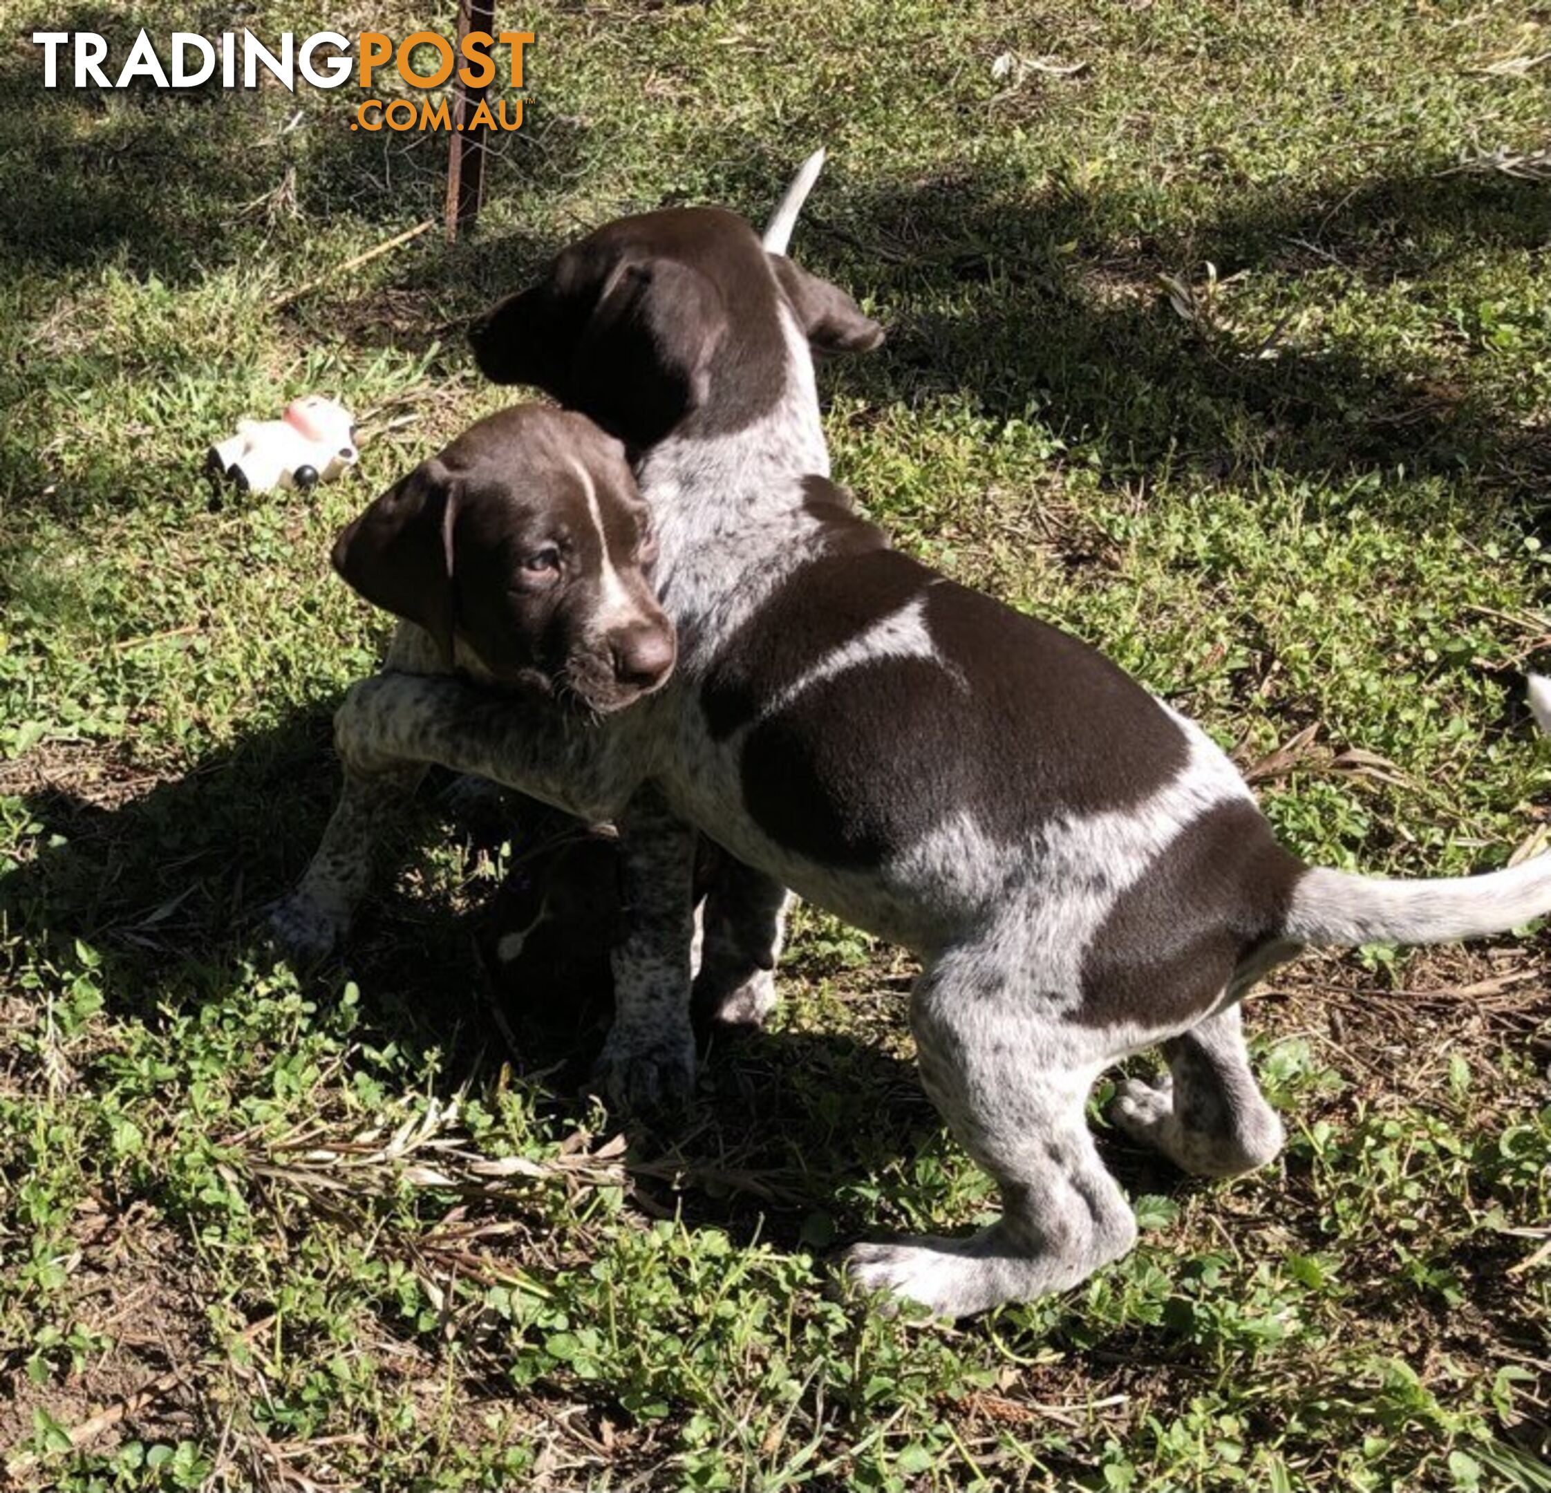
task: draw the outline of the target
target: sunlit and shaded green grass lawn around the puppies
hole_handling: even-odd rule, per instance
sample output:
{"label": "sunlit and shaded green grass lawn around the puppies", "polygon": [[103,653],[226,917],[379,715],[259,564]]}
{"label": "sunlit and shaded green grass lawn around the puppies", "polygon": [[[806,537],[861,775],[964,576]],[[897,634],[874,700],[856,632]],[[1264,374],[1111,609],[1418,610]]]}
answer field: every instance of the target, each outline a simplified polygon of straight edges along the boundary
{"label": "sunlit and shaded green grass lawn around the puppies", "polygon": [[[915,1085],[893,950],[805,912],[777,1029],[619,1144],[507,1050],[462,926],[493,867],[445,814],[349,974],[259,936],[385,636],[329,538],[504,397],[461,319],[613,214],[758,217],[819,143],[796,251],[890,330],[825,369],[828,431],[898,543],[1259,763],[1301,854],[1506,860],[1551,786],[1520,682],[1551,643],[1551,184],[1456,167],[1551,143],[1551,65],[1492,70],[1551,53],[1545,12],[503,8],[538,43],[478,231],[278,307],[433,216],[444,143],[352,133],[337,95],[45,96],[34,28],[121,54],[230,22],[107,9],[0,0],[12,1481],[1551,1488],[1540,938],[1281,972],[1252,1025],[1283,1160],[1207,1186],[1106,1133],[1142,1245],[949,1330],[825,1295],[831,1245],[993,1206]],[[361,415],[361,478],[212,498],[205,445],[309,389]]]}

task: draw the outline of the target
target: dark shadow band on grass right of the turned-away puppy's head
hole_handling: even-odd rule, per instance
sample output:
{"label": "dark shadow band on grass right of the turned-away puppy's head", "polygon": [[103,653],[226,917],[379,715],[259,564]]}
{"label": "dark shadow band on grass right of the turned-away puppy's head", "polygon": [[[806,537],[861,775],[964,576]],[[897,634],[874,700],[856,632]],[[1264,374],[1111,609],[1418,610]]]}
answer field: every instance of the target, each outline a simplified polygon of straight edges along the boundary
{"label": "dark shadow band on grass right of the turned-away puppy's head", "polygon": [[[1121,478],[1469,470],[1514,501],[1543,501],[1551,429],[1526,423],[1522,383],[1461,377],[1404,330],[1359,340],[1321,321],[1349,295],[1537,250],[1551,237],[1551,194],[1535,183],[1284,183],[1247,189],[1227,216],[1152,229],[1138,220],[1162,217],[1155,205],[1061,183],[1031,194],[985,174],[842,188],[819,202],[799,254],[873,296],[889,324],[884,355],[844,374],[867,403],[968,392],[991,417],[1035,411],[1072,442],[1101,443]],[[1214,307],[1202,296],[1197,318],[1182,316],[1160,276],[1200,291],[1207,260],[1219,287],[1238,274],[1269,281],[1280,304],[1238,326],[1233,295],[1219,290]],[[1436,293],[1405,290],[1455,319]],[[1477,315],[1472,298],[1442,340],[1480,347],[1489,327]]]}

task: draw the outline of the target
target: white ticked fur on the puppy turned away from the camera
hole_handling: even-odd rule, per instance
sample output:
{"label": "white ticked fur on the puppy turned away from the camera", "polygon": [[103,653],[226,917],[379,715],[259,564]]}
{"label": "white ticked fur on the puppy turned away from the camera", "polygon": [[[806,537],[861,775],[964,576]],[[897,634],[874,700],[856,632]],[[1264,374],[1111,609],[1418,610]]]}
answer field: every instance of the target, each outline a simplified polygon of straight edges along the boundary
{"label": "white ticked fur on the puppy turned away from the camera", "polygon": [[[786,233],[789,225],[776,237],[783,243]],[[1259,1164],[1273,1152],[1280,1126],[1255,1090],[1231,1005],[1204,1012],[1191,1029],[1149,1023],[1146,1012],[1123,1029],[1073,1019],[1084,955],[1117,901],[1200,815],[1250,795],[1224,752],[1176,716],[1188,750],[1173,778],[1128,809],[1056,817],[1028,843],[1008,843],[980,806],[965,803],[883,864],[838,868],[777,842],[752,819],[741,733],[712,740],[696,688],[771,592],[822,549],[824,522],[802,501],[803,478],[830,470],[813,358],[783,302],[780,322],[785,384],[771,411],[744,429],[709,437],[689,420],[637,467],[659,541],[661,598],[679,631],[679,674],[625,712],[628,721],[599,732],[613,747],[600,744],[585,760],[579,753],[560,772],[530,722],[501,727],[487,709],[464,712],[456,685],[391,679],[355,687],[337,718],[337,740],[347,760],[375,752],[442,761],[563,805],[568,795],[574,802],[571,784],[583,772],[599,802],[624,802],[647,784],[645,797],[656,802],[644,812],[656,839],[641,846],[658,881],[687,885],[693,839],[675,828],[676,815],[748,865],[915,949],[923,974],[910,1022],[923,1082],[966,1150],[1000,1183],[1003,1215],[969,1239],[856,1246],[848,1268],[869,1288],[957,1316],[1069,1287],[1129,1248],[1135,1222],[1083,1113],[1093,1078],[1128,1051],[1176,1039],[1173,1090],[1123,1093],[1117,1118],[1132,1133],[1213,1174]],[[901,654],[941,662],[918,606],[814,659],[786,698]],[[1537,685],[1531,702],[1551,721],[1551,685]],[[1295,891],[1289,940],[1396,929],[1419,940],[1459,936],[1447,929],[1497,930],[1548,904],[1551,857],[1470,884],[1436,884],[1436,895],[1425,884],[1315,871]],[[679,998],[687,991],[675,986],[689,971],[693,929],[687,909],[664,905],[664,929],[653,935],[637,921],[637,953],[627,947],[616,958],[619,1020],[605,1048],[610,1074],[641,1074],[636,1088],[647,1093],[656,1091],[659,1073],[681,1074],[686,1062],[692,1071],[693,1062]],[[1292,947],[1278,944],[1275,953]],[[1235,978],[1224,1000],[1238,992]]]}

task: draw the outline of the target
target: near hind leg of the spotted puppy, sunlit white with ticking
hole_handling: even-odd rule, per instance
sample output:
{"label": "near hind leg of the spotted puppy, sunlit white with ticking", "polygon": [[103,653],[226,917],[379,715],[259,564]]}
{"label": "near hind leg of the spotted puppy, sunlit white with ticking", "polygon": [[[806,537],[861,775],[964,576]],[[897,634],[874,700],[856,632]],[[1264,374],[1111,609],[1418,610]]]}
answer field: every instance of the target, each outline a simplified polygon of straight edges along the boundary
{"label": "near hind leg of the spotted puppy, sunlit white with ticking", "polygon": [[1066,1290],[1124,1254],[1135,1219],[1083,1113],[1101,1067],[1092,1034],[962,955],[921,977],[910,1026],[926,1091],[996,1178],[1002,1217],[968,1239],[856,1245],[850,1277],[955,1318]]}

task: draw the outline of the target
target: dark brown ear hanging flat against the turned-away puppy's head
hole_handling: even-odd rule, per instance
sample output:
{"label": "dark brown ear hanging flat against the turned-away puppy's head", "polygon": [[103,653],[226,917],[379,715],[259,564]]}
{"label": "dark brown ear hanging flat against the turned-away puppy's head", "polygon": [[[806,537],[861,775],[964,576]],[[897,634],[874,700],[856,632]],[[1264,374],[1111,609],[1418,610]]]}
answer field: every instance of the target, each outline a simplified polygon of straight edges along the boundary
{"label": "dark brown ear hanging flat against the turned-away puppy's head", "polygon": [[653,445],[704,403],[726,330],[707,276],[673,259],[625,259],[577,341],[568,403],[628,445]]}

